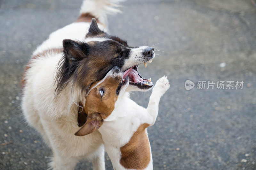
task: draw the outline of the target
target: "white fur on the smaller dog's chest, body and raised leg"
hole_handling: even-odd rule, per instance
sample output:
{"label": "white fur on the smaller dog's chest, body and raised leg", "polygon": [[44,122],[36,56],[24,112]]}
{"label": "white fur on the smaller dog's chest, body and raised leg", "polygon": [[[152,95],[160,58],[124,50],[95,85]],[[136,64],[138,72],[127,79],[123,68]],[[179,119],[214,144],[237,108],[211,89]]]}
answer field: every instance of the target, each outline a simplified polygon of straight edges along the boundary
{"label": "white fur on the smaller dog's chest, body and raised leg", "polygon": [[[159,100],[169,87],[167,77],[160,78],[153,88],[147,109],[132,101],[127,92],[119,95],[114,111],[99,129],[114,169],[126,169],[120,164],[120,148],[130,141],[141,124],[148,123],[152,126],[155,123]],[[151,149],[150,162],[146,169],[153,169]]]}

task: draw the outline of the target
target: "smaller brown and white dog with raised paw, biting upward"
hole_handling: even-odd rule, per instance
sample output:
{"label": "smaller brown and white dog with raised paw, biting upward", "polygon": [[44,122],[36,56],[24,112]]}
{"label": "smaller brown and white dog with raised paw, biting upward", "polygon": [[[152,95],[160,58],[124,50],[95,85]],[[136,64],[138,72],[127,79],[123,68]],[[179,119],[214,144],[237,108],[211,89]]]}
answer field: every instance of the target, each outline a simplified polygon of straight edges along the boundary
{"label": "smaller brown and white dog with raised paw, biting upward", "polygon": [[[148,107],[143,108],[127,97],[124,92],[128,77],[115,67],[116,78],[107,78],[90,87],[84,111],[88,117],[75,135],[84,136],[99,129],[104,147],[114,169],[153,169],[148,126],[155,123],[160,97],[170,87],[167,77],[160,78],[149,98]],[[112,87],[109,87],[109,84]],[[114,111],[111,113],[110,110]]]}

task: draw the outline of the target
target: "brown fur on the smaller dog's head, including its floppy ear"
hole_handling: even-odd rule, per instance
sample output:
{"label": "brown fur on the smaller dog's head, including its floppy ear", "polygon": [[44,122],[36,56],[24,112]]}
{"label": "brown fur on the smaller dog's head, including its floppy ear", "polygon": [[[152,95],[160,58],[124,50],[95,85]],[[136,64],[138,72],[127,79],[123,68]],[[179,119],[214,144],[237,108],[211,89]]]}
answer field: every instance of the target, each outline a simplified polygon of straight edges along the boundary
{"label": "brown fur on the smaller dog's head, including its floppy ear", "polygon": [[[122,78],[122,76],[107,76],[102,83],[89,92],[84,106],[84,112],[88,116],[84,125],[75,133],[76,136],[84,136],[100,128],[104,119],[106,119],[115,108],[115,102],[118,98],[116,90]],[[92,88],[98,82],[99,81],[92,83],[90,87]],[[100,90],[103,91],[103,95],[100,95]]]}

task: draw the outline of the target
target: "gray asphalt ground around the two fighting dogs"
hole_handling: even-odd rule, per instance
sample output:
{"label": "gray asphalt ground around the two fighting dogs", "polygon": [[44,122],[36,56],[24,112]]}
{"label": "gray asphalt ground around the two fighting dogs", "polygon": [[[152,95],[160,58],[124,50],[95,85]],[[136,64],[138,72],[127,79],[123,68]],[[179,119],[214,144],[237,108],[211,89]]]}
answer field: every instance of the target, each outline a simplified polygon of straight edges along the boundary
{"label": "gray asphalt ground around the two fighting dogs", "polygon": [[[52,152],[24,121],[19,81],[32,52],[51,32],[75,21],[81,2],[0,1],[0,169],[47,168]],[[148,128],[155,169],[256,169],[253,2],[129,0],[122,3],[122,14],[109,17],[110,33],[129,45],[159,43],[153,46],[159,55],[140,67],[140,74],[154,83],[167,75],[171,82],[156,123]],[[244,85],[187,91],[186,80],[243,80]],[[146,107],[150,92],[133,93]],[[76,166],[91,168],[86,160]],[[108,156],[106,168],[112,168]]]}

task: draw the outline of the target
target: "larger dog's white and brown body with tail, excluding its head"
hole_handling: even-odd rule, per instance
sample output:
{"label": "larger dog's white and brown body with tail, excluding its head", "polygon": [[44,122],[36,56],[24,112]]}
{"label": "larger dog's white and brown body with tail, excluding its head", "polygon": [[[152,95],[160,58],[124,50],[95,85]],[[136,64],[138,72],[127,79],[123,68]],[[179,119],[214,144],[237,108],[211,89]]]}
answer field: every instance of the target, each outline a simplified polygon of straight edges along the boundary
{"label": "larger dog's white and brown body with tail, excluding its head", "polygon": [[77,21],[51,33],[34,51],[24,70],[21,80],[22,110],[28,124],[51,147],[54,154],[52,168],[72,169],[81,156],[98,157],[98,162],[94,161],[93,165],[105,168],[100,133],[94,132],[85,137],[74,135],[79,129],[77,104],[81,91],[75,86],[67,86],[55,96],[54,79],[63,56],[63,39],[83,41],[92,17],[98,18],[99,27],[106,30],[107,13],[118,12],[111,6],[115,2],[117,1],[85,0]]}

